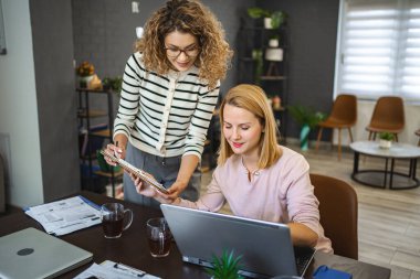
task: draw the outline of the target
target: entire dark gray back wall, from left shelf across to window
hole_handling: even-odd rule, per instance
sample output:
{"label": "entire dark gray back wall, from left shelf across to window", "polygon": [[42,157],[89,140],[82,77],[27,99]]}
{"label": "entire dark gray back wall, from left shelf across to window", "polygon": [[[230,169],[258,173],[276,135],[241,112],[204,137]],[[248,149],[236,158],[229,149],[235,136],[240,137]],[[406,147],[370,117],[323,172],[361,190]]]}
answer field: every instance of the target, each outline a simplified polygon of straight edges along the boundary
{"label": "entire dark gray back wall, from left shelf across to window", "polygon": [[[143,25],[164,0],[144,0],[140,13],[132,13],[130,1],[73,0],[74,56],[95,64],[99,77],[122,75],[133,52],[135,28]],[[233,50],[240,17],[260,6],[288,14],[288,96],[291,105],[305,105],[328,112],[333,105],[338,0],[202,0],[222,22]],[[237,84],[234,56],[222,93]],[[287,105],[287,104],[285,104]],[[298,137],[300,127],[287,117],[287,137]],[[328,137],[328,133],[325,135]],[[312,138],[315,133],[312,133]]]}

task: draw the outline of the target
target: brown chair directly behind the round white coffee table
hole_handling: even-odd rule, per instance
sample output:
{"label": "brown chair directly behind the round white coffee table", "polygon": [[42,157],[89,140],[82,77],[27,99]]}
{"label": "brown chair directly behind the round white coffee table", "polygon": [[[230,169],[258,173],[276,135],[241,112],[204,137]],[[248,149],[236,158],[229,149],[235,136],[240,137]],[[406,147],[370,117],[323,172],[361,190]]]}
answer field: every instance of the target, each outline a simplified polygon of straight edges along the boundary
{"label": "brown chair directly behind the round white coffee table", "polygon": [[382,96],[375,105],[370,124],[366,127],[369,140],[375,140],[378,132],[391,132],[398,142],[398,133],[405,126],[402,98],[397,96]]}

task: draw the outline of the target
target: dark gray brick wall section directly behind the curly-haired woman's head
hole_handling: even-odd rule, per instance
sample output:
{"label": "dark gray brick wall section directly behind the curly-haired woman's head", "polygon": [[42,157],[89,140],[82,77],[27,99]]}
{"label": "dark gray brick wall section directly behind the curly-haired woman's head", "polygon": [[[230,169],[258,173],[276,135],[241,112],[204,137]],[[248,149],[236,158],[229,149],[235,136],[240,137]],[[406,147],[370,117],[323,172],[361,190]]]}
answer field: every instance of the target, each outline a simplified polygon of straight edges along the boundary
{"label": "dark gray brick wall section directly behind the curly-haired woman's head", "polygon": [[[77,64],[92,62],[98,76],[123,75],[125,63],[133,53],[136,26],[143,26],[153,11],[165,4],[165,0],[139,1],[139,13],[132,13],[132,1],[127,0],[73,0],[74,57]],[[235,35],[240,15],[255,3],[254,0],[203,0],[219,18],[227,40],[235,47]],[[235,57],[222,92],[235,84]]]}

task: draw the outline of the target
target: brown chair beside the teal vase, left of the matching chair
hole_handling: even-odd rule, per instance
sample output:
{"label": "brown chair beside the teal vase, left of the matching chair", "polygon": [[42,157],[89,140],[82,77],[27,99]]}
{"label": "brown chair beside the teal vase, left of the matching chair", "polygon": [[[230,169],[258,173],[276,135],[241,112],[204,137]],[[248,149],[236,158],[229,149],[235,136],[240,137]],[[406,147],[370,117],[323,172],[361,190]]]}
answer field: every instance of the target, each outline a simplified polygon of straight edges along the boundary
{"label": "brown chair beside the teal vase, left of the matching chair", "polygon": [[328,118],[318,124],[318,139],[316,140],[316,151],[319,148],[321,137],[324,128],[330,128],[332,144],[334,140],[334,129],[338,129],[338,160],[342,159],[342,129],[347,129],[353,142],[351,127],[357,121],[357,98],[355,95],[342,94],[334,101],[333,109]]}

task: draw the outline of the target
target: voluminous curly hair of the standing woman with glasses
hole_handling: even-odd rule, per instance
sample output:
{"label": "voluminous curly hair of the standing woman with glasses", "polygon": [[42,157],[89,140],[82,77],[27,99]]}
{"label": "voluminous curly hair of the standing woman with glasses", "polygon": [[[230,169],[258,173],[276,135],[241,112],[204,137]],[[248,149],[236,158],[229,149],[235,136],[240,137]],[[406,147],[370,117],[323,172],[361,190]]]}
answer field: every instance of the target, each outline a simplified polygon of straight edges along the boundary
{"label": "voluminous curly hair of the standing woman with glasses", "polygon": [[207,81],[210,88],[225,77],[232,50],[224,40],[224,30],[213,13],[196,0],[170,0],[158,9],[146,22],[143,37],[136,42],[135,51],[143,53],[147,69],[165,75],[170,69],[165,37],[179,31],[198,39],[200,54],[195,65],[199,78]]}

